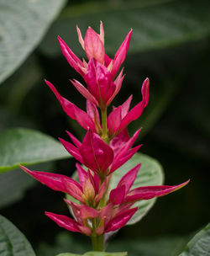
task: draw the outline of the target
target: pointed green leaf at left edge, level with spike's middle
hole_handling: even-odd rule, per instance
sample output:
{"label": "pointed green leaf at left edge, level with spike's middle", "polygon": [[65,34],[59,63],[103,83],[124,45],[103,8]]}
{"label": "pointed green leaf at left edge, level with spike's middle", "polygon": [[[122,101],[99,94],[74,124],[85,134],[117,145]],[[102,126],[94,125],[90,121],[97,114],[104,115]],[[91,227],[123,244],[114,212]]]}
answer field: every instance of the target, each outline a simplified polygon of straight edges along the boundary
{"label": "pointed green leaf at left edge, level with spike's middle", "polygon": [[60,142],[39,131],[14,128],[0,133],[0,173],[30,165],[71,157]]}

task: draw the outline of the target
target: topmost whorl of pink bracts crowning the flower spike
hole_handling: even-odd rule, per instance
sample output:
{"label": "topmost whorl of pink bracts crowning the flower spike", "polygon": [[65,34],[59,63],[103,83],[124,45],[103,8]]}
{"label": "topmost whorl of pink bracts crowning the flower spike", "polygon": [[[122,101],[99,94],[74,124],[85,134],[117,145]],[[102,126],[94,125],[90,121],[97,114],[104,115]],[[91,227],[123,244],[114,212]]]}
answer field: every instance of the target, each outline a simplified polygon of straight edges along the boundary
{"label": "topmost whorl of pink bracts crowning the flower spike", "polygon": [[116,52],[112,60],[105,54],[104,50],[104,30],[101,22],[100,35],[98,35],[91,27],[87,29],[85,40],[82,39],[81,31],[76,27],[79,41],[82,48],[86,51],[88,63],[81,61],[66,45],[65,41],[58,37],[60,48],[66,60],[71,67],[79,72],[87,83],[85,88],[81,83],[74,80],[71,81],[76,89],[93,104],[104,108],[108,106],[118,93],[123,82],[123,71],[113,81],[122,65],[127,51],[129,50],[129,41],[132,35],[132,29],[126,36],[123,44]]}

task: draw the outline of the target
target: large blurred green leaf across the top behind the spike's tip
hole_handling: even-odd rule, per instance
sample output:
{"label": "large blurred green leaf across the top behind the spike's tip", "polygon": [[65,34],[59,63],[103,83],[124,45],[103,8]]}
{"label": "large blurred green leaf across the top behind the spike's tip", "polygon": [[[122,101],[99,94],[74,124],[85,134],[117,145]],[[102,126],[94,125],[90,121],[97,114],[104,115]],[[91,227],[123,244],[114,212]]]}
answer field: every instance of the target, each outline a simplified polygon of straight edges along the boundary
{"label": "large blurred green leaf across the top behind the spike's tip", "polygon": [[59,54],[55,35],[60,35],[81,55],[76,24],[83,35],[88,25],[97,29],[102,20],[106,50],[114,53],[130,28],[134,29],[129,53],[156,50],[198,40],[210,34],[209,1],[150,0],[83,3],[66,8],[41,45],[47,55]]}

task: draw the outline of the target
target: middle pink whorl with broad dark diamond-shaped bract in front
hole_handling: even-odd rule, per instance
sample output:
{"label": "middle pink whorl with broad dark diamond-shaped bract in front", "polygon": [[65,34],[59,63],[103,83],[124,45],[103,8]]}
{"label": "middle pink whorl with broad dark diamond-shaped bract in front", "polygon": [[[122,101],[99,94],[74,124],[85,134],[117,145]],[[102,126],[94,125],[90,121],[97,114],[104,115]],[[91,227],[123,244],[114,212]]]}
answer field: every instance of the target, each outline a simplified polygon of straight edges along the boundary
{"label": "middle pink whorl with broad dark diamond-shaped bract in front", "polygon": [[113,173],[122,166],[123,163],[126,163],[139,150],[141,145],[131,148],[139,135],[139,131],[132,138],[129,138],[126,143],[122,143],[118,150],[115,149],[115,152],[112,147],[102,141],[100,136],[90,130],[87,131],[87,135],[82,142],[77,141],[70,132],[67,132],[76,147],[63,139],[60,139],[60,142],[76,160],[90,168],[92,172],[97,173],[103,179],[103,177]]}

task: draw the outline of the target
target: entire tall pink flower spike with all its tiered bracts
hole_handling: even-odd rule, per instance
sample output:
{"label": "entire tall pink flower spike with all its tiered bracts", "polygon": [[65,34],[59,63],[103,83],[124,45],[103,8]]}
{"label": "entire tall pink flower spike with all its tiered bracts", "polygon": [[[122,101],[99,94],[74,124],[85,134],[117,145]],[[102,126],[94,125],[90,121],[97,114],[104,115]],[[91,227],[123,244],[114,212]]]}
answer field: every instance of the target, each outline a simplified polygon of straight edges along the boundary
{"label": "entire tall pink flower spike with all its tiered bracts", "polygon": [[[140,130],[130,137],[127,126],[131,121],[139,118],[148,104],[150,81],[148,78],[144,80],[142,101],[139,104],[129,110],[132,100],[130,96],[122,105],[113,108],[107,117],[107,107],[123,83],[123,69],[119,73],[118,70],[129,50],[132,29],[113,59],[105,53],[102,22],[100,34],[89,27],[84,40],[80,29],[76,27],[76,30],[79,42],[86,52],[87,61],[84,59],[81,61],[60,37],[58,40],[66,60],[76,72],[81,74],[87,84],[87,87],[84,87],[76,80],[71,81],[87,99],[86,111],[63,98],[50,82],[45,81],[45,83],[55,93],[66,114],[87,130],[83,141],[78,141],[70,132],[67,133],[72,142],[60,139],[67,152],[87,169],[76,163],[79,177],[79,182],[76,182],[65,175],[30,171],[23,166],[21,168],[50,189],[62,191],[77,200],[77,203],[65,200],[71,207],[75,220],[50,212],[45,212],[46,216],[71,232],[100,236],[123,227],[138,210],[137,207],[132,208],[136,201],[167,195],[180,189],[188,181],[176,186],[147,186],[132,189],[139,172],[139,163],[118,181],[115,189],[108,192],[112,173],[133,157],[141,146],[133,147]],[[101,117],[98,109],[101,110]]]}

